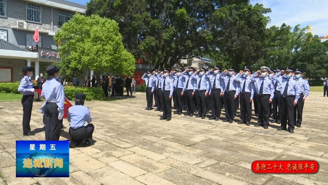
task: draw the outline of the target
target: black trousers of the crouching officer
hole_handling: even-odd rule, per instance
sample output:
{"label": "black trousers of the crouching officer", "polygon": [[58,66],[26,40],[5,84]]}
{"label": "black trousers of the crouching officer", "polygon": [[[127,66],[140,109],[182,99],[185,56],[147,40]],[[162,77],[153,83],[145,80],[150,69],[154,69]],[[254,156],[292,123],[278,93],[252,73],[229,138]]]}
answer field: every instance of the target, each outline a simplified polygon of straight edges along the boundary
{"label": "black trousers of the crouching officer", "polygon": [[88,124],[87,126],[83,127],[78,127],[73,129],[70,127],[70,130],[68,131],[72,140],[77,144],[77,145],[84,145],[85,144],[85,139],[92,139],[92,133],[94,130],[93,124]]}

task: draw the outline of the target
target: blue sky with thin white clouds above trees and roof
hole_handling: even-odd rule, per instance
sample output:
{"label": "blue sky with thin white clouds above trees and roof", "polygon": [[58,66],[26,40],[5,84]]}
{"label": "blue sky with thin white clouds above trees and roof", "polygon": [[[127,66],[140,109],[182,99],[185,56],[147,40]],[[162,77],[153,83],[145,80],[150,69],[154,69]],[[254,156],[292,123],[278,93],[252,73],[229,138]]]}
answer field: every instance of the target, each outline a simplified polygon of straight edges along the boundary
{"label": "blue sky with thin white clouds above trees and roof", "polygon": [[[85,5],[90,0],[68,0]],[[251,0],[271,8],[271,23],[268,27],[281,26],[286,23],[292,27],[297,24],[301,28],[311,26],[313,35],[328,35],[328,1],[327,0]]]}

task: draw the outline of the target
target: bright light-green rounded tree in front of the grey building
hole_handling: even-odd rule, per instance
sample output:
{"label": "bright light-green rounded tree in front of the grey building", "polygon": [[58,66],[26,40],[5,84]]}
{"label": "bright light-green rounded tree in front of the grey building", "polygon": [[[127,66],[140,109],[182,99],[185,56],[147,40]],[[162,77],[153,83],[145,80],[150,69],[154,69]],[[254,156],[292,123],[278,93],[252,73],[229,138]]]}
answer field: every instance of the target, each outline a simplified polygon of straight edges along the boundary
{"label": "bright light-green rounded tree in front of the grey building", "polygon": [[124,49],[114,20],[76,13],[53,38],[60,45],[61,66],[71,76],[82,69],[95,71],[96,78],[101,71],[132,75],[135,70],[135,59]]}

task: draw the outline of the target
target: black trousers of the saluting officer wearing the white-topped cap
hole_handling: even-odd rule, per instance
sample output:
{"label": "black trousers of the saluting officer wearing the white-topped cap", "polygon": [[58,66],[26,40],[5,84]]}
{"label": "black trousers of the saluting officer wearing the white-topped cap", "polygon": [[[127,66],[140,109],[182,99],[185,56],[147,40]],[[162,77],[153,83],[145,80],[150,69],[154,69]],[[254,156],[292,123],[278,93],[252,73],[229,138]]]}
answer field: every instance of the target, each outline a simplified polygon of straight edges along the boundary
{"label": "black trousers of the saluting officer wearing the white-topped cap", "polygon": [[257,95],[258,120],[257,123],[269,125],[269,99],[270,94]]}

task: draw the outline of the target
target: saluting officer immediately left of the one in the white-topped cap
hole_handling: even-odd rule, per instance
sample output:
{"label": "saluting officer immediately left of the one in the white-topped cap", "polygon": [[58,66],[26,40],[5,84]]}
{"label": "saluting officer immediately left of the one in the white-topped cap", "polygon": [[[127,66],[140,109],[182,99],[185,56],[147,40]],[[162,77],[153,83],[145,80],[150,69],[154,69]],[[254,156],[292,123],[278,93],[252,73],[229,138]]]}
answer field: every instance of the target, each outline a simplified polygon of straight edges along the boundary
{"label": "saluting officer immediately left of the one in the white-topped cap", "polygon": [[250,67],[245,66],[243,70],[239,71],[237,81],[240,82],[240,119],[238,124],[250,125],[252,118],[252,101],[254,96],[254,83],[251,81],[253,71]]}

